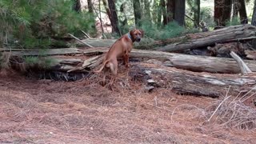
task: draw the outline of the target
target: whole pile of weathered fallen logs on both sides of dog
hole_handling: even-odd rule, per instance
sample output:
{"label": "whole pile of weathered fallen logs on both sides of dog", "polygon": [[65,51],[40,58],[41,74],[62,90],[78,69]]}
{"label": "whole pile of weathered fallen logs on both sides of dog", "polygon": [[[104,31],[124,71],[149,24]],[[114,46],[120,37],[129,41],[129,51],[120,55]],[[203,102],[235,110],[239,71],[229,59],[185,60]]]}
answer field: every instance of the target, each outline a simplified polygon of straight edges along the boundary
{"label": "whole pile of weathered fallen logs on both sides of dog", "polygon": [[[256,86],[256,52],[250,46],[255,32],[254,26],[239,25],[155,41],[154,50],[131,51],[131,63],[139,61],[139,64],[132,64],[130,77],[136,79],[140,73],[145,86],[154,83],[153,87],[171,88],[181,94],[218,97],[225,94],[229,87],[232,94],[246,92]],[[48,70],[88,72],[102,64],[104,54],[114,43],[114,40],[91,38],[81,41],[78,42],[84,47],[50,49],[43,54],[40,50],[11,50],[10,58],[14,59],[11,64],[21,63],[15,62],[15,58],[36,56],[53,59]],[[181,54],[184,50],[201,49],[206,53]],[[8,50],[0,49],[2,51]]]}

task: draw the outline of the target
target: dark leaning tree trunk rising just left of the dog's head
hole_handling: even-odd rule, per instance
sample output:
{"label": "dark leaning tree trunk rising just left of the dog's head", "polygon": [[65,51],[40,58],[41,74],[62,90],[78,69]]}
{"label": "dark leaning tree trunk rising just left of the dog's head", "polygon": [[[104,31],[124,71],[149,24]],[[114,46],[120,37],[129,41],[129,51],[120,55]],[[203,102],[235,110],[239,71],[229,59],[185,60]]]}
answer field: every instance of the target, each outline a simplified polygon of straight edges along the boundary
{"label": "dark leaning tree trunk rising just left of the dog's head", "polygon": [[108,2],[110,7],[110,15],[111,15],[110,22],[112,26],[112,33],[116,33],[119,36],[121,36],[120,30],[118,28],[118,14],[115,9],[114,0],[108,0]]}

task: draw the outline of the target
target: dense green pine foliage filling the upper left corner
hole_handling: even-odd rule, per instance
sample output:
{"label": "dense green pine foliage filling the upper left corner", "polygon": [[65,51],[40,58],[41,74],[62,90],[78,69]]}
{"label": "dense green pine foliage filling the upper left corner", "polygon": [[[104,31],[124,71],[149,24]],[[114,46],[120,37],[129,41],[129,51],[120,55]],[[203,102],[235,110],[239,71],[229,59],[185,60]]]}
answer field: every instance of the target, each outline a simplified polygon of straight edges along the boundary
{"label": "dense green pine foliage filling the upper left corner", "polygon": [[50,38],[90,32],[94,16],[72,9],[72,0],[1,0],[0,46],[46,48]]}

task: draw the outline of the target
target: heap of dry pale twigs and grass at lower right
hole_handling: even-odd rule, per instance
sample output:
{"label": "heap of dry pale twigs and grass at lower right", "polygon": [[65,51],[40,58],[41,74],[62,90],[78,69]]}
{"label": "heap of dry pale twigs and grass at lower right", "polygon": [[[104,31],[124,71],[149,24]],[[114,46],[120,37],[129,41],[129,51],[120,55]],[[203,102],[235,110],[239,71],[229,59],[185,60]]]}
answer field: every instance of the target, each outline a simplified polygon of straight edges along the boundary
{"label": "heap of dry pale twigs and grass at lower right", "polygon": [[[248,91],[242,97],[228,95],[217,100],[207,108],[210,118],[207,122],[214,122],[220,126],[238,128],[244,130],[255,130],[256,109],[246,106],[246,101],[256,98],[256,87]],[[214,111],[213,111],[214,110]]]}

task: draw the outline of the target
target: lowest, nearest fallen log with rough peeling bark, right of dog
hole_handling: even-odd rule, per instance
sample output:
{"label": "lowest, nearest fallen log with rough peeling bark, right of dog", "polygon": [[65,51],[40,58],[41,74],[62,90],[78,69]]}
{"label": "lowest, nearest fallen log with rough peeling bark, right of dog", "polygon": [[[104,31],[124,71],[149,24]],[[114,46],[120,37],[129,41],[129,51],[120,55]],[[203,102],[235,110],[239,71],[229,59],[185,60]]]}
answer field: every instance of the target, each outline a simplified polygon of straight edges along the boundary
{"label": "lowest, nearest fallen log with rough peeling bark, right of dog", "polygon": [[227,91],[229,95],[234,96],[245,94],[256,85],[256,75],[195,74],[166,67],[154,68],[154,66],[143,64],[132,67],[129,74],[134,80],[146,82],[147,86],[169,88],[179,94],[213,98],[224,96]]}

